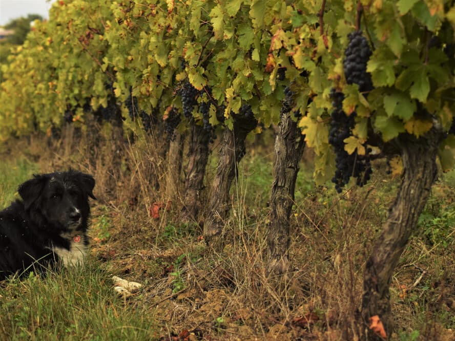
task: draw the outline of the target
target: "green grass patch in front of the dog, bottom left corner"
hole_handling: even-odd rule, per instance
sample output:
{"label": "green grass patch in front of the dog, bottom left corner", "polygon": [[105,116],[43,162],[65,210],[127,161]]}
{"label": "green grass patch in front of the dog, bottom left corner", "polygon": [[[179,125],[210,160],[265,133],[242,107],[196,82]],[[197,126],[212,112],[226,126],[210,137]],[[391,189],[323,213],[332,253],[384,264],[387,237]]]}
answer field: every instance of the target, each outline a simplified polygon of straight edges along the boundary
{"label": "green grass patch in front of the dog, bottom left corner", "polygon": [[153,316],[125,305],[97,262],[11,279],[0,297],[0,332],[11,340],[156,338]]}

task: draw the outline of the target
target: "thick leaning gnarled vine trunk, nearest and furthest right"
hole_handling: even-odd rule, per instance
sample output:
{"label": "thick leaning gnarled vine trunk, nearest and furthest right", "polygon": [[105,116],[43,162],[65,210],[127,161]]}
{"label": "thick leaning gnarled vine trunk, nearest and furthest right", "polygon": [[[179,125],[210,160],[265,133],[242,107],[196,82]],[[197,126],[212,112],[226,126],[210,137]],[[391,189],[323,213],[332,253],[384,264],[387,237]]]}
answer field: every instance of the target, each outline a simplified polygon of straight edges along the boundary
{"label": "thick leaning gnarled vine trunk, nearest and furthest right", "polygon": [[[415,231],[419,216],[428,200],[437,176],[436,155],[440,134],[432,129],[419,139],[409,135],[399,138],[403,159],[402,183],[383,230],[366,262],[363,284],[362,316],[369,326],[378,315],[387,336],[393,328],[390,313],[391,276],[409,237]],[[381,339],[371,332],[369,339]]]}

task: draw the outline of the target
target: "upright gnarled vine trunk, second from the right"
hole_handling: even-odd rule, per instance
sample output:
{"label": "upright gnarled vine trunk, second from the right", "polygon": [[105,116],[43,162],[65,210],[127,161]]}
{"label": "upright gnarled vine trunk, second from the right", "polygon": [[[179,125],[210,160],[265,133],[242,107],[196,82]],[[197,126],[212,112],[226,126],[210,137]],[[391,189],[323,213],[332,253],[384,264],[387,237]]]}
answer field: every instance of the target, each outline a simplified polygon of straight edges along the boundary
{"label": "upright gnarled vine trunk, second from the right", "polygon": [[275,139],[274,181],[267,236],[269,269],[277,274],[286,272],[289,266],[289,216],[304,146],[304,137],[297,122],[292,120],[291,113],[283,107]]}

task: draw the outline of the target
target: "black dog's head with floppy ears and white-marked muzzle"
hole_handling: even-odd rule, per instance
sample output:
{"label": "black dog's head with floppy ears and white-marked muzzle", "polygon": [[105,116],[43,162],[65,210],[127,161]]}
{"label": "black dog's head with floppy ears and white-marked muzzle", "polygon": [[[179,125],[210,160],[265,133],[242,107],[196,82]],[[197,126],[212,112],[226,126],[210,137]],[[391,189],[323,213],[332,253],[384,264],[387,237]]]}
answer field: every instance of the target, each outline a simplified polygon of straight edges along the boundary
{"label": "black dog's head with floppy ears and white-marked muzzle", "polygon": [[63,230],[86,226],[90,214],[88,197],[93,195],[95,179],[76,172],[55,172],[34,175],[19,186],[25,209],[44,217],[47,223]]}

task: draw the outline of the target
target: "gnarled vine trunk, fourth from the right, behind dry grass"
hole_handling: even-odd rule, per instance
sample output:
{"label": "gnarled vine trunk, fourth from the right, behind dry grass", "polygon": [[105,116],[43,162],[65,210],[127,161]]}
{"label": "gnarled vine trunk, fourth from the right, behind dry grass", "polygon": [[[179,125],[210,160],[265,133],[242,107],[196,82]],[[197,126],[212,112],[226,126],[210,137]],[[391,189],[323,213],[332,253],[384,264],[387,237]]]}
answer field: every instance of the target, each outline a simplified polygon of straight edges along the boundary
{"label": "gnarled vine trunk, fourth from the right, behind dry grass", "polygon": [[204,189],[205,166],[209,160],[210,135],[202,126],[191,124],[190,150],[188,152],[187,177],[180,221],[196,221],[202,205],[201,193]]}

